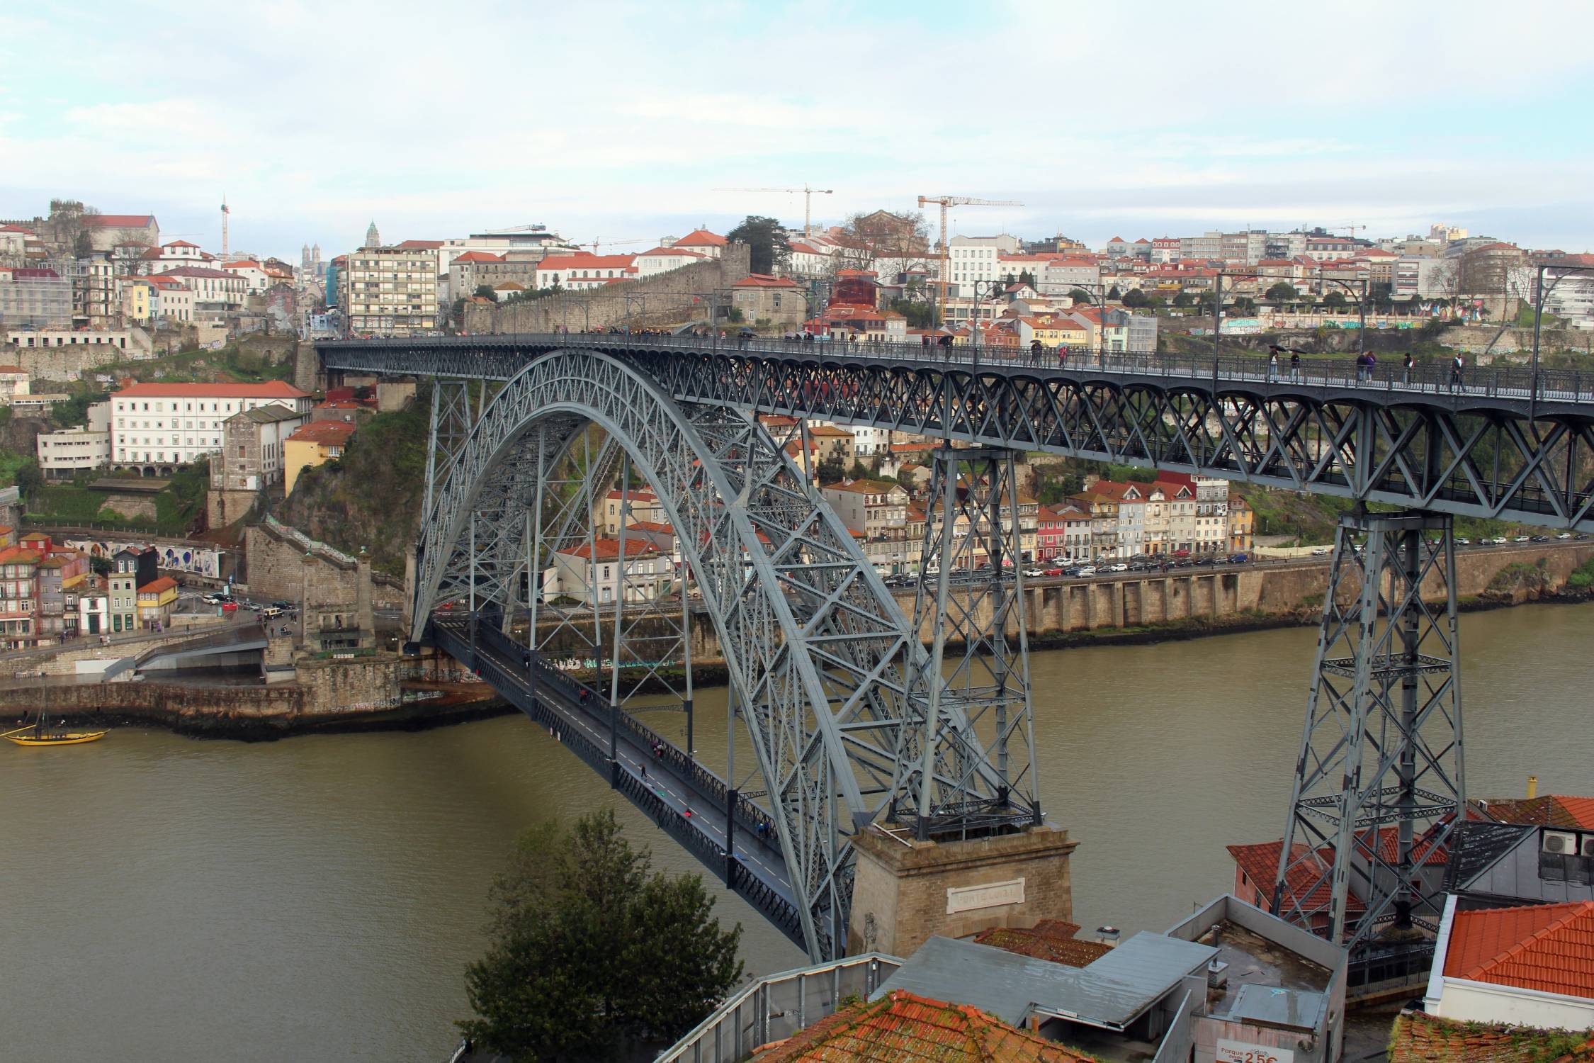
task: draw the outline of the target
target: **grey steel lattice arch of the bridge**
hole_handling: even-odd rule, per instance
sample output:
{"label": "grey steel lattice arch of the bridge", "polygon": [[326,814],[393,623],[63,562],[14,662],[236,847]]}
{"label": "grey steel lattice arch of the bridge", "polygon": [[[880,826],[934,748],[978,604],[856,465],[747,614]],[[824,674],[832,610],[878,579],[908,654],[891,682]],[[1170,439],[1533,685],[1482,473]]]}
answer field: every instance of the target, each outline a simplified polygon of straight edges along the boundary
{"label": "grey steel lattice arch of the bridge", "polygon": [[[604,433],[596,453],[587,426]],[[577,446],[583,470],[572,488],[577,473],[559,462]],[[756,751],[803,940],[815,958],[838,955],[851,835],[893,805],[918,808],[925,787],[939,805],[990,806],[1003,783],[960,706],[944,704],[926,725],[923,647],[853,535],[760,426],[677,403],[601,354],[532,362],[480,410],[430,489],[411,637],[427,634],[434,607],[462,604],[475,653],[478,639],[507,639],[524,614],[524,665],[544,661],[548,604],[536,574],[553,548],[593,540],[595,484],[606,483],[611,449],[657,492],[676,531]],[[625,609],[607,610],[622,637],[615,658]],[[604,617],[588,602],[569,618],[591,631],[599,661]],[[614,676],[607,692],[596,681],[588,690],[617,698]],[[614,704],[612,727],[623,716]],[[617,768],[612,778],[620,783]]]}

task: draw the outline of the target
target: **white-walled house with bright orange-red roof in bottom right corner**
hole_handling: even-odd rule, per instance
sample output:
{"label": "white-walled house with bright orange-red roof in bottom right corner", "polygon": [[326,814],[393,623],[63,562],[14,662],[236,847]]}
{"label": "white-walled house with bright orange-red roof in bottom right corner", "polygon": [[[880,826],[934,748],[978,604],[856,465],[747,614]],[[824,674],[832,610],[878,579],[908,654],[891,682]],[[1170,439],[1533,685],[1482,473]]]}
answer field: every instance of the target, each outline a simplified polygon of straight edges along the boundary
{"label": "white-walled house with bright orange-red roof in bottom right corner", "polygon": [[1594,1026],[1589,942],[1594,900],[1460,912],[1451,894],[1423,1010],[1459,1022],[1588,1030]]}

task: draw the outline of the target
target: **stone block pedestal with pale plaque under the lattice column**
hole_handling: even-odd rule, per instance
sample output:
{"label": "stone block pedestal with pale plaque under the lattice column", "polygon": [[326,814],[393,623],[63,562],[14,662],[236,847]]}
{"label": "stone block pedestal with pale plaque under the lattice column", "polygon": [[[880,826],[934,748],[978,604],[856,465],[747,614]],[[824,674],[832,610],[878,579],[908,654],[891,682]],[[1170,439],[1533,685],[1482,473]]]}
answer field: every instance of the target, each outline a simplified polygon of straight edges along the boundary
{"label": "stone block pedestal with pale plaque under the lattice column", "polygon": [[853,837],[858,872],[846,951],[909,956],[936,934],[1073,921],[1068,859],[1078,841],[1041,826],[969,841],[915,841],[912,830]]}

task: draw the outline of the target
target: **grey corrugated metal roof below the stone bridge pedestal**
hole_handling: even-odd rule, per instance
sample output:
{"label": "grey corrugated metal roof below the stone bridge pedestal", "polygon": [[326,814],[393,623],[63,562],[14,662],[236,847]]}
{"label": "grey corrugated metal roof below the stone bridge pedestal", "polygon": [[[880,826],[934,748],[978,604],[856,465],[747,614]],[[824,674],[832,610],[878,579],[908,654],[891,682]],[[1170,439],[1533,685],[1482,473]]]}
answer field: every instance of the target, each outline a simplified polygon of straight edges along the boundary
{"label": "grey corrugated metal roof below the stone bridge pedestal", "polygon": [[1086,967],[950,937],[931,937],[875,993],[907,990],[937,1001],[972,1004],[1004,1023],[1023,1023],[1041,1010],[1122,1028],[1151,1007],[1180,979],[1200,972],[1218,955],[1162,934],[1137,934]]}

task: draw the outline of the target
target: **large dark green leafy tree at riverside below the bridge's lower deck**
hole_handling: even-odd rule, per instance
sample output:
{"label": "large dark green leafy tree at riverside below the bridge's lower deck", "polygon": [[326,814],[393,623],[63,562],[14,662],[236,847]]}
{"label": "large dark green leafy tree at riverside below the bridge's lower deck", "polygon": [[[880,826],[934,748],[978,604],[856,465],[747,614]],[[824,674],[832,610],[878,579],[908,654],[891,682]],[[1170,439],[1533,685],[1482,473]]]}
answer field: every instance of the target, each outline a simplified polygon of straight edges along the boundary
{"label": "large dark green leafy tree at riverside below the bridge's lower deck", "polygon": [[493,883],[491,945],[465,969],[478,1018],[457,1023],[513,1060],[603,1060],[673,1039],[741,979],[700,875],[666,878],[614,811],[521,835]]}

